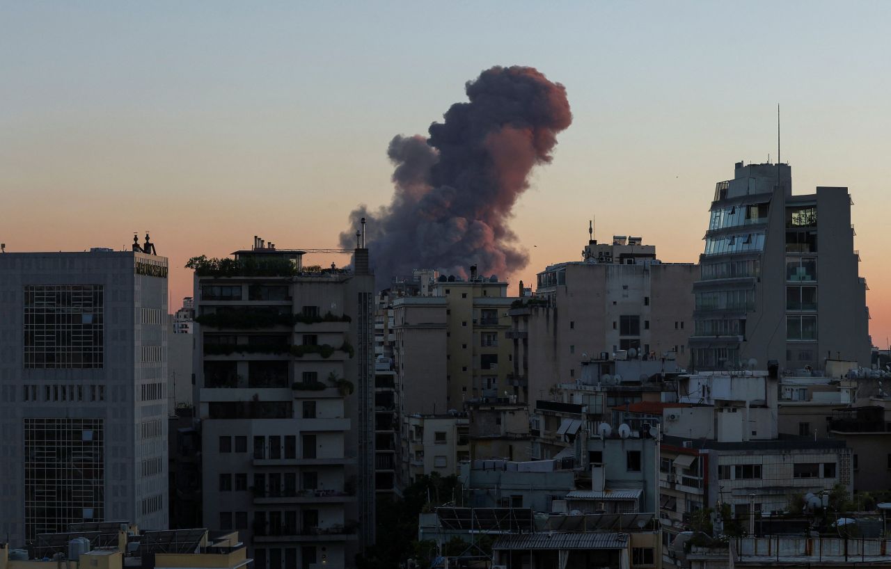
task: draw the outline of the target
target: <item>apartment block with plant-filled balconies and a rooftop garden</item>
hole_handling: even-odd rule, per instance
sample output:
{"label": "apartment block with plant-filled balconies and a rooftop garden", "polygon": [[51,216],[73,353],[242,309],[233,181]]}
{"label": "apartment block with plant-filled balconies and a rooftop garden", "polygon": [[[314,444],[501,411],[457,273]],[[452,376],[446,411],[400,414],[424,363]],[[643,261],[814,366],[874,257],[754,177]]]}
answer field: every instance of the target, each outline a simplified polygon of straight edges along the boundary
{"label": "apartment block with plant-filled balconies and a rooftop garden", "polygon": [[243,532],[257,569],[350,567],[374,541],[368,249],[353,271],[303,253],[196,264],[204,524]]}

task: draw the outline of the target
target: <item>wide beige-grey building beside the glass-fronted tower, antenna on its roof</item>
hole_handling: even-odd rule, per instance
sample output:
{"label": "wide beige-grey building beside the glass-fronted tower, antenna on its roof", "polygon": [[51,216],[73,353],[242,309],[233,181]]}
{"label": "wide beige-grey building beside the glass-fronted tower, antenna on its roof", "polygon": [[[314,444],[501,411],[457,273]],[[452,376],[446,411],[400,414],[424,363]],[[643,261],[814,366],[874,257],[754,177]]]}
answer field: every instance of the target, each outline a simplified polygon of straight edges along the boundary
{"label": "wide beige-grey building beside the glass-fronted tower, antenna on its roof", "polygon": [[582,261],[548,266],[535,297],[511,307],[511,383],[523,401],[546,398],[581,377],[581,362],[612,354],[687,362],[696,265],[662,263],[640,237],[599,244],[590,231]]}

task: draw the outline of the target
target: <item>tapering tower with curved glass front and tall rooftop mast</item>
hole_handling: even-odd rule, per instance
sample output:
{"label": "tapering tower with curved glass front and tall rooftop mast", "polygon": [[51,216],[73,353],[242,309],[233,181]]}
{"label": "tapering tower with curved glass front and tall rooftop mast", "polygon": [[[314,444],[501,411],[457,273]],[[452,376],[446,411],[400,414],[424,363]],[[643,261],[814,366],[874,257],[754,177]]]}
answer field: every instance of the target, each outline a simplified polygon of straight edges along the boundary
{"label": "tapering tower with curved glass front and tall rooftop mast", "polygon": [[822,369],[828,357],[870,366],[851,204],[847,188],[793,195],[788,164],[738,162],[715,185],[694,287],[697,370],[751,359]]}

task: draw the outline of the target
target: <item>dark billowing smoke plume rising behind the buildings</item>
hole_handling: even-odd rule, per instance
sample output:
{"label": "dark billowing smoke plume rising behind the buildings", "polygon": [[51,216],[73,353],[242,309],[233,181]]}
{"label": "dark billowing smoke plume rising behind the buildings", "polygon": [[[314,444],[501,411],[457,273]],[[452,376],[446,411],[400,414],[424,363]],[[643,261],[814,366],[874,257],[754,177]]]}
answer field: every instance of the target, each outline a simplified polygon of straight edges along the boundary
{"label": "dark billowing smoke plume rising behind the buildings", "polygon": [[[396,136],[387,150],[396,165],[388,206],[360,206],[379,286],[416,268],[506,278],[528,263],[508,222],[536,164],[551,162],[557,133],[572,122],[566,89],[530,67],[486,69],[466,85],[470,102],[452,105],[429,137]],[[340,234],[356,247],[356,230]]]}

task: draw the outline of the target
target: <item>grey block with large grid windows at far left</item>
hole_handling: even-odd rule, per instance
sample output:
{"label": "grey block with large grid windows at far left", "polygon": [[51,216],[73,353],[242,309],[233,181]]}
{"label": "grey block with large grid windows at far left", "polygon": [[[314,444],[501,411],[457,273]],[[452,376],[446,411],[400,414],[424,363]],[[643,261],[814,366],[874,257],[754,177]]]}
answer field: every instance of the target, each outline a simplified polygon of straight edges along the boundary
{"label": "grey block with large grid windows at far left", "polygon": [[0,254],[0,535],[12,543],[72,523],[167,527],[168,261],[142,251]]}

